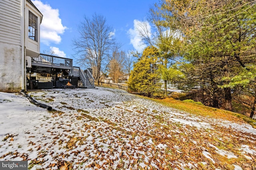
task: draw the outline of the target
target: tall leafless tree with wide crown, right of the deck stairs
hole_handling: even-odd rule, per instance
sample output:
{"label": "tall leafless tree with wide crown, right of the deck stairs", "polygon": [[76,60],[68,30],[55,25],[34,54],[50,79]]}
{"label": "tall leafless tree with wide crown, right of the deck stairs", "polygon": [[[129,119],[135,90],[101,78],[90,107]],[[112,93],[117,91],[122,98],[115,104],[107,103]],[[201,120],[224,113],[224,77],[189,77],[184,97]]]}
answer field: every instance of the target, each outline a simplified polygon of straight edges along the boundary
{"label": "tall leafless tree with wide crown, right of the deck stairs", "polygon": [[82,66],[92,68],[93,76],[100,83],[100,77],[108,65],[109,53],[115,44],[114,29],[107,25],[106,18],[94,14],[92,18],[84,16],[78,25],[80,37],[73,40],[78,61]]}

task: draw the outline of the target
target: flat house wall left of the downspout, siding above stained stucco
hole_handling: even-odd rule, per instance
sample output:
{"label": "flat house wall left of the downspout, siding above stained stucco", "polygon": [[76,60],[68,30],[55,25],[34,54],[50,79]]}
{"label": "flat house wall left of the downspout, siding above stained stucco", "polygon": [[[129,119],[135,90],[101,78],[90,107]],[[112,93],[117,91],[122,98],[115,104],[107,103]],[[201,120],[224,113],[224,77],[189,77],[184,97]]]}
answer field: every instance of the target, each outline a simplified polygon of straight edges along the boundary
{"label": "flat house wall left of the downspout, siding above stained stucco", "polygon": [[22,89],[22,0],[0,0],[0,91]]}

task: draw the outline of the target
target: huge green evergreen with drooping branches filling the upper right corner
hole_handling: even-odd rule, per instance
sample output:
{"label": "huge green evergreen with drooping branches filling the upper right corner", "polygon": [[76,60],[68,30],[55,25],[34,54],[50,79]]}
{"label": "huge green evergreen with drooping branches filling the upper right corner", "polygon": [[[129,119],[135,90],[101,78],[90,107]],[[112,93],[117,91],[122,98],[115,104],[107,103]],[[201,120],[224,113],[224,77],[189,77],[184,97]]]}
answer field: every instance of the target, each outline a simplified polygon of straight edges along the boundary
{"label": "huge green evergreen with drooping branches filling the upper right corner", "polygon": [[161,7],[183,34],[186,59],[194,65],[191,77],[212,90],[214,103],[223,97],[225,108],[232,110],[227,85],[256,62],[256,1],[168,0]]}

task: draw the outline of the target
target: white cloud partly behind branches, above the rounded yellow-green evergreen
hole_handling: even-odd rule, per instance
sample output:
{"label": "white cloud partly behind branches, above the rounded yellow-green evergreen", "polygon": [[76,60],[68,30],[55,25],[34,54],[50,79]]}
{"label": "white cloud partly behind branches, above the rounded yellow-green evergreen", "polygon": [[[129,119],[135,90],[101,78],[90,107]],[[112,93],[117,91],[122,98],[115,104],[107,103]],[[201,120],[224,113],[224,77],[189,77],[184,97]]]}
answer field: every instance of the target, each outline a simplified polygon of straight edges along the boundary
{"label": "white cloud partly behind branches, above the rounded yellow-green evergreen", "polygon": [[140,37],[140,31],[144,32],[142,30],[142,27],[145,26],[146,29],[148,30],[148,35],[151,36],[151,27],[147,21],[134,20],[133,24],[134,28],[130,28],[128,30],[130,43],[133,45],[134,49],[141,53],[143,49],[146,48],[147,45],[142,42],[142,38]]}

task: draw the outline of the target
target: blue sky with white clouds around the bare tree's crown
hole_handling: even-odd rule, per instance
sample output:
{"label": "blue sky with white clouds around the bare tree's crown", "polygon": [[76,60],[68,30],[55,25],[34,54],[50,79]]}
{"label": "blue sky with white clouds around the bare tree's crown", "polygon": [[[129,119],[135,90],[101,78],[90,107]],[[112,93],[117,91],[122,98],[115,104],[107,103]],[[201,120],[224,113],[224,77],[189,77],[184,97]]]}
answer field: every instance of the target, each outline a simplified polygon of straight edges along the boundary
{"label": "blue sky with white clouds around the bare tree's crown", "polygon": [[[137,23],[145,21],[150,6],[159,0],[32,0],[43,14],[40,26],[40,51],[53,50],[59,57],[73,59],[72,39],[84,16],[102,15],[115,30],[114,37],[122,50],[141,52]],[[150,25],[149,29],[150,29]]]}

